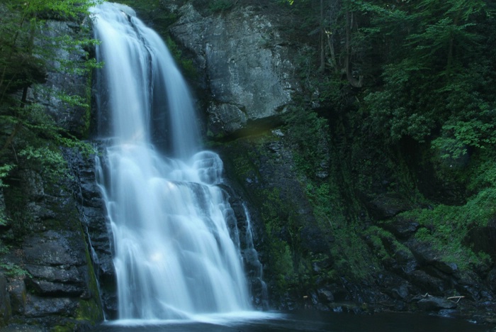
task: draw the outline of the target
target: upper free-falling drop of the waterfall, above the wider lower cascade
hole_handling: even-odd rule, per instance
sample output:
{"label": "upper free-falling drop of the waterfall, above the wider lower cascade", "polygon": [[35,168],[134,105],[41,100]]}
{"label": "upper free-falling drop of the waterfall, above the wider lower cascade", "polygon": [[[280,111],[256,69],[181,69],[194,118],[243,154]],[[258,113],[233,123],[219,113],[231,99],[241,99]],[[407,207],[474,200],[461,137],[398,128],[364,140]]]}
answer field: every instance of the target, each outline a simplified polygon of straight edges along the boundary
{"label": "upper free-falling drop of the waterfall, above the wider lower cascade", "polygon": [[105,63],[98,79],[106,98],[98,108],[111,113],[115,142],[146,142],[151,131],[169,131],[169,154],[191,157],[199,146],[196,113],[163,40],[128,6],[106,2],[93,12],[95,37],[101,41],[96,59]]}

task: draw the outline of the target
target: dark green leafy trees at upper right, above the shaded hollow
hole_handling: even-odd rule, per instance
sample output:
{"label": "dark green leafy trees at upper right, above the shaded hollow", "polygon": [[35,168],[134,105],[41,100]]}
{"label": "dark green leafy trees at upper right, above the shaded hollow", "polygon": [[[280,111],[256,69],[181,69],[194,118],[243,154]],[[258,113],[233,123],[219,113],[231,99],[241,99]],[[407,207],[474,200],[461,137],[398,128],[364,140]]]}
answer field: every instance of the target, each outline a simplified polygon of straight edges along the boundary
{"label": "dark green leafy trees at upper right, above the shaded hollow", "polygon": [[456,159],[495,143],[494,6],[322,0],[295,1],[293,10],[319,28],[322,101],[340,104],[332,90],[346,77],[359,88],[364,130],[387,143],[433,141],[441,158]]}

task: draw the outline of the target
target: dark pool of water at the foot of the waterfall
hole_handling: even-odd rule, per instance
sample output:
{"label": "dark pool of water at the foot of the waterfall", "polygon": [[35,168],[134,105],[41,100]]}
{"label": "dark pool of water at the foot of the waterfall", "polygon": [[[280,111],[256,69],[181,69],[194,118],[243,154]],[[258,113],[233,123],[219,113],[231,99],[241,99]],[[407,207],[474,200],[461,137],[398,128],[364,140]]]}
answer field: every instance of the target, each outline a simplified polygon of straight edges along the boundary
{"label": "dark pool of water at the foot of the waterfall", "polygon": [[93,331],[105,332],[493,332],[495,326],[480,325],[425,314],[353,315],[305,312],[298,314],[262,314],[259,316],[199,318],[201,321],[121,321],[103,323]]}

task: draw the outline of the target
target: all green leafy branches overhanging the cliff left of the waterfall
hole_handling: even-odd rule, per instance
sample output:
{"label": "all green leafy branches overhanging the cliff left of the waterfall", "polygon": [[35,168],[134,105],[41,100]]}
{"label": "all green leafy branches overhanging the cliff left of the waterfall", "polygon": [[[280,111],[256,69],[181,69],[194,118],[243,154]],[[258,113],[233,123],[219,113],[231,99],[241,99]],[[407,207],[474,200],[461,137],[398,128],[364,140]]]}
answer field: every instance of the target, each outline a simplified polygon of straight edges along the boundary
{"label": "all green leafy branches overhanging the cliff left of the waterfall", "polygon": [[[96,1],[98,2],[98,1]],[[89,6],[86,0],[6,0],[0,4],[0,189],[17,170],[33,170],[43,176],[44,184],[60,183],[67,177],[67,162],[61,147],[72,147],[89,154],[91,145],[81,142],[57,126],[44,104],[33,99],[58,99],[60,109],[89,110],[89,95],[78,96],[52,89],[42,83],[47,72],[89,76],[101,66],[89,58],[96,40],[88,38],[84,26]],[[62,35],[57,26],[47,20],[73,20],[74,35]],[[67,60],[69,55],[72,60]],[[15,183],[15,182],[14,182]],[[9,195],[0,206],[0,225],[9,223],[15,236],[27,231],[30,215],[23,213],[26,194],[18,186],[9,187]],[[1,196],[1,199],[4,199]],[[4,240],[6,235],[3,236]],[[9,246],[0,243],[0,253]],[[26,270],[11,262],[0,262],[0,269],[9,277],[28,275]]]}

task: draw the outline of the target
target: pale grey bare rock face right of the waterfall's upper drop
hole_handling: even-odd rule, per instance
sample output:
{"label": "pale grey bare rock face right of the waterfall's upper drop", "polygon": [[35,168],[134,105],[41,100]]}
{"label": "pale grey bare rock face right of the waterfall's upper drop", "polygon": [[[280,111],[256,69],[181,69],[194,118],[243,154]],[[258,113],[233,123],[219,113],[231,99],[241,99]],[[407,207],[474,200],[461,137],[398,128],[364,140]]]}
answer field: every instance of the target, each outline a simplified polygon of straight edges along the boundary
{"label": "pale grey bare rock face right of the waterfall's upper drop", "polygon": [[210,135],[229,135],[286,111],[300,89],[288,40],[271,20],[252,8],[203,17],[182,6],[171,34],[190,50],[205,73]]}

